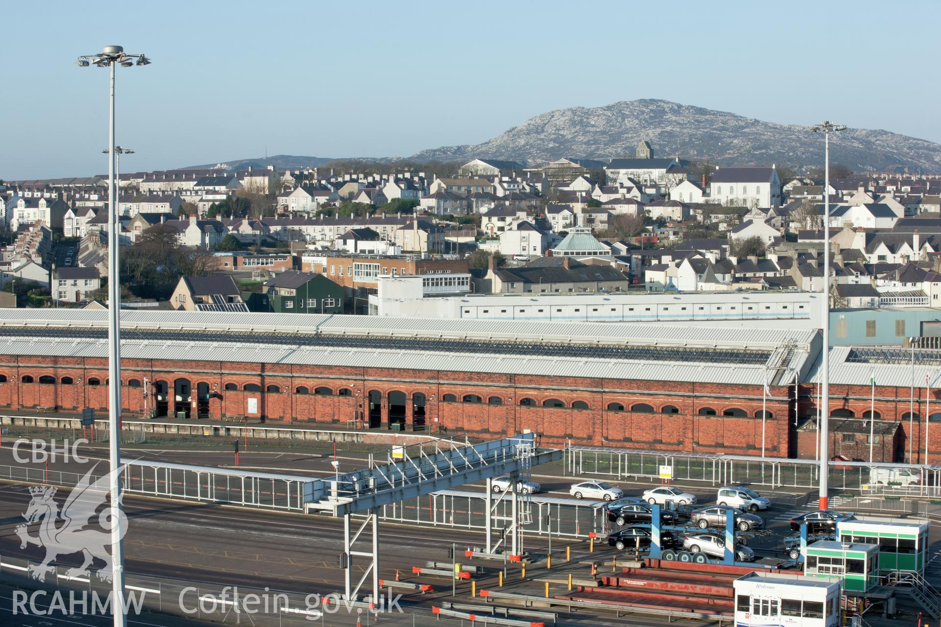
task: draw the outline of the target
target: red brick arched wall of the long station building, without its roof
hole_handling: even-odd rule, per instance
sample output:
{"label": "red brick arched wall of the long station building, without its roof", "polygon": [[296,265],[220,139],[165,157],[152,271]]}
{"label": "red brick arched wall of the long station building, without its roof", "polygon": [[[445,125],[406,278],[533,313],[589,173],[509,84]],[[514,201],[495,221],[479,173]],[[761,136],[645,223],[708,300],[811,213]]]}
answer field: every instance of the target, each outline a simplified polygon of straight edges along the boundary
{"label": "red brick arched wall of the long station building, without its roof", "polygon": [[[412,395],[426,399],[425,420],[432,427],[471,436],[494,437],[529,429],[546,444],[573,444],[758,454],[761,449],[761,386],[676,382],[622,381],[584,377],[536,377],[422,369],[336,368],[311,365],[241,362],[124,359],[121,362],[121,404],[139,415],[145,389],[130,382],[148,382],[147,406],[156,406],[156,384],[165,382],[168,411],[189,410],[198,385],[206,384],[209,399],[200,408],[212,418],[247,415],[252,419],[294,423],[346,423],[370,414],[370,392],[378,392],[376,409],[388,427],[390,393],[407,397],[405,424],[417,422]],[[32,377],[33,383],[24,383]],[[43,384],[40,377],[56,383]],[[72,384],[62,383],[63,377]],[[97,378],[101,384],[88,384]],[[0,408],[56,406],[65,410],[107,405],[107,363],[101,358],[0,356]],[[177,407],[174,382],[188,380],[191,396]],[[246,389],[257,386],[261,391]],[[316,394],[316,389],[330,394]],[[233,388],[233,389],[230,389]],[[303,393],[301,388],[306,388]],[[340,396],[341,390],[346,396]],[[766,454],[789,452],[789,390],[772,390],[772,414],[765,425]],[[452,395],[455,400],[451,400]],[[465,397],[482,402],[465,402]],[[532,404],[522,406],[529,400]],[[559,400],[565,407],[545,407]],[[573,403],[575,404],[573,406]],[[583,405],[582,405],[583,403]],[[610,409],[619,403],[625,409]],[[637,403],[650,411],[631,411]],[[664,411],[676,413],[666,414]],[[707,409],[708,408],[708,409]],[[731,409],[745,417],[723,415]],[[639,408],[635,408],[639,409]],[[252,411],[253,410],[253,411]],[[700,415],[703,411],[715,415]],[[941,430],[939,430],[941,431]]]}

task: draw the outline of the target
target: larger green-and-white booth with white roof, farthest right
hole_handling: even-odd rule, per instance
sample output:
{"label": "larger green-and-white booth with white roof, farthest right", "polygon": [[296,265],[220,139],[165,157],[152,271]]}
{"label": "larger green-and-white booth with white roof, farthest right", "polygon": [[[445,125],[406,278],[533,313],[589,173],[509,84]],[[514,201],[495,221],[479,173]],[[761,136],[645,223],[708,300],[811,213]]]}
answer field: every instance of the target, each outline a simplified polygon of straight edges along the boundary
{"label": "larger green-and-white booth with white roof, farthest right", "polygon": [[879,547],[879,571],[915,571],[924,574],[928,532],[932,524],[922,520],[857,518],[837,524],[837,538],[853,544]]}

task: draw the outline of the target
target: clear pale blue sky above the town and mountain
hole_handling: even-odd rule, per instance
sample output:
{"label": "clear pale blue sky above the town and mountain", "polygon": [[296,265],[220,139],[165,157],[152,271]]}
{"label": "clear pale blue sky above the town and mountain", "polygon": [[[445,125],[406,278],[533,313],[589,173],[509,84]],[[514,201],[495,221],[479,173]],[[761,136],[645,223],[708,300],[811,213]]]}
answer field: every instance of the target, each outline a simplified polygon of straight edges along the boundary
{"label": "clear pale blue sky above the town and mountain", "polygon": [[3,180],[106,171],[108,72],[73,61],[108,44],[153,61],[118,69],[125,172],[407,157],[640,98],[941,142],[935,1],[53,1],[4,22]]}

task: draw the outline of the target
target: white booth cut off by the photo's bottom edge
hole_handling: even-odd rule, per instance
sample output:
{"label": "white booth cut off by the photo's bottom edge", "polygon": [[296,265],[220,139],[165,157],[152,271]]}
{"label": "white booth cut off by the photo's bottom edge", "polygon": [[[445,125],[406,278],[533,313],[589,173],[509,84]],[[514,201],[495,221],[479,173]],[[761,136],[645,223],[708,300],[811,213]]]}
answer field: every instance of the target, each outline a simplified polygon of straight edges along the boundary
{"label": "white booth cut off by the photo's bottom edge", "polygon": [[735,624],[741,627],[836,627],[839,580],[749,572],[733,582]]}

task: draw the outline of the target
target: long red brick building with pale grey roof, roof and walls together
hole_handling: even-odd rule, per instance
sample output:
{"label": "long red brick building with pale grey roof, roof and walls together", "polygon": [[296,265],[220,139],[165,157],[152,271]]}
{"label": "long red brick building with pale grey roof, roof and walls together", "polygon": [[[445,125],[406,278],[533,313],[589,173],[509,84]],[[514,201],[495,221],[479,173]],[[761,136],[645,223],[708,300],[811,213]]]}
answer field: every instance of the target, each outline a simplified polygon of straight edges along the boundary
{"label": "long red brick building with pale grey roof, roof and walls together", "polygon": [[[10,312],[0,327],[0,407],[104,410],[105,314]],[[146,407],[480,437],[529,429],[547,444],[745,455],[760,453],[763,427],[774,457],[789,454],[787,377],[819,352],[817,334],[806,331],[206,312],[122,318],[121,404],[135,416]],[[803,350],[782,348],[795,342]]]}

